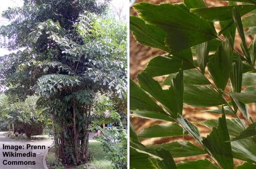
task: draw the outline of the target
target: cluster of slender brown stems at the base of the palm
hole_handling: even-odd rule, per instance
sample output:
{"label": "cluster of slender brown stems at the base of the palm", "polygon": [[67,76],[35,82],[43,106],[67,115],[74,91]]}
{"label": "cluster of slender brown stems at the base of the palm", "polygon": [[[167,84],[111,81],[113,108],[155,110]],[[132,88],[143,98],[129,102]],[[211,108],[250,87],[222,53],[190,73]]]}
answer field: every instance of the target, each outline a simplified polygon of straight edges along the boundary
{"label": "cluster of slender brown stems at the base of the palm", "polygon": [[[79,112],[78,107],[82,109]],[[82,119],[78,121],[78,113]],[[91,114],[91,104],[79,106],[75,99],[72,99],[72,121],[68,118],[58,118],[53,122],[54,143],[56,157],[61,159],[63,164],[86,163],[88,158],[89,144],[89,122]],[[73,125],[70,125],[73,123]]]}

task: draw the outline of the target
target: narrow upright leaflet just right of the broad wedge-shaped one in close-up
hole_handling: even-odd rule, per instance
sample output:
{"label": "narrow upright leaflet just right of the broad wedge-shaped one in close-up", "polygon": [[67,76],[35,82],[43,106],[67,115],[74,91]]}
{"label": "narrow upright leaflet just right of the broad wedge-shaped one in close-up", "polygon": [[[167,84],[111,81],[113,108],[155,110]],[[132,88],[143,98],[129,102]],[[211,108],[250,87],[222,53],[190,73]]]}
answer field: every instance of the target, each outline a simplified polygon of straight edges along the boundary
{"label": "narrow upright leaflet just right of the broad wedge-shaped one in close-up", "polygon": [[230,74],[231,87],[233,92],[240,93],[242,88],[242,70],[243,64],[240,57],[235,63],[232,63],[232,69]]}

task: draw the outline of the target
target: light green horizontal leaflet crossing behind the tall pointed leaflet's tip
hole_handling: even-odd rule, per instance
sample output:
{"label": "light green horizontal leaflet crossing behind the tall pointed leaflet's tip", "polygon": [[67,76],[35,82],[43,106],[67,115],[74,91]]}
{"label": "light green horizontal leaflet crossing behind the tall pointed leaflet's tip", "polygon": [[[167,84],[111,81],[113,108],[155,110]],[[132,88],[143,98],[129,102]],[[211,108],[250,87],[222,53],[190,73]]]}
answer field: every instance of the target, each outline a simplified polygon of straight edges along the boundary
{"label": "light green horizontal leaflet crossing behind the tall pointed leaflet's tip", "polygon": [[[238,136],[244,130],[245,122],[243,120],[243,124],[241,124],[237,118],[227,119],[226,121],[229,135]],[[198,124],[204,125],[208,128],[216,128],[218,126],[218,119],[205,120],[203,122],[198,122]]]}

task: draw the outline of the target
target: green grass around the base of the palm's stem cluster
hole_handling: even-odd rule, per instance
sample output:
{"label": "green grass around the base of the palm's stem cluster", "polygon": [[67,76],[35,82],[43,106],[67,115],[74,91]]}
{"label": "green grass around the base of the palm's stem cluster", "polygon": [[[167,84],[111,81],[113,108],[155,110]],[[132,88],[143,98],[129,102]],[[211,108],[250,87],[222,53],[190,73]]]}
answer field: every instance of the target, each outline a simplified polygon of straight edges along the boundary
{"label": "green grass around the base of the palm's stem cluster", "polygon": [[111,161],[103,151],[100,142],[89,142],[90,161],[80,166],[61,166],[56,163],[54,148],[51,148],[46,156],[48,169],[111,169]]}

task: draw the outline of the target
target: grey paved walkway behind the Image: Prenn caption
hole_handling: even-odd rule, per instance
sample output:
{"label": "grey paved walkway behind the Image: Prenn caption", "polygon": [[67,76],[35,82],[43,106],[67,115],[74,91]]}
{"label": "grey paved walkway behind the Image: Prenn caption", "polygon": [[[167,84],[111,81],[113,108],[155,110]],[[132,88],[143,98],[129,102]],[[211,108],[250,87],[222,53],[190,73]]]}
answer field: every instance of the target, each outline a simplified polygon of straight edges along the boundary
{"label": "grey paved walkway behind the Image: Prenn caption", "polygon": [[[49,146],[52,144],[52,139],[46,140],[31,140],[31,141],[24,141],[24,140],[14,140],[9,139],[3,135],[5,132],[0,132],[0,169],[43,169],[43,156],[48,149]],[[24,150],[18,150],[17,153],[36,153],[36,157],[3,157],[3,151],[11,151],[15,152],[15,150],[3,150],[4,145],[24,145]],[[26,150],[27,144],[31,144],[34,146],[45,145],[45,150]],[[35,161],[36,165],[3,165],[3,161]]]}

